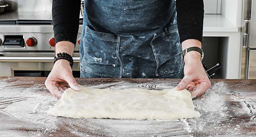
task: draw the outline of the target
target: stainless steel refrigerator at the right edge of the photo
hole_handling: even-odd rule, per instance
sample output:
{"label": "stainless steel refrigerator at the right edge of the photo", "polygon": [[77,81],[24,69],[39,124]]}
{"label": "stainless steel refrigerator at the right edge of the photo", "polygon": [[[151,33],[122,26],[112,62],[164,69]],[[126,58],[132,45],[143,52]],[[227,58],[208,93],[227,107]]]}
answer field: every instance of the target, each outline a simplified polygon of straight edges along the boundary
{"label": "stainless steel refrigerator at the right edge of the photo", "polygon": [[243,0],[241,78],[256,79],[256,0]]}

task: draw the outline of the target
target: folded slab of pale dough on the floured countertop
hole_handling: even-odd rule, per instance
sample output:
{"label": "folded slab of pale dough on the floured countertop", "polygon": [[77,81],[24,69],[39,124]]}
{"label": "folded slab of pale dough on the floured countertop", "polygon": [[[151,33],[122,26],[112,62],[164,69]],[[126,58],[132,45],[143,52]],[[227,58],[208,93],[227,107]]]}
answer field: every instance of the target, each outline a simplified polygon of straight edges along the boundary
{"label": "folded slab of pale dough on the floured countertop", "polygon": [[200,117],[187,90],[65,90],[48,114],[73,118],[183,119]]}

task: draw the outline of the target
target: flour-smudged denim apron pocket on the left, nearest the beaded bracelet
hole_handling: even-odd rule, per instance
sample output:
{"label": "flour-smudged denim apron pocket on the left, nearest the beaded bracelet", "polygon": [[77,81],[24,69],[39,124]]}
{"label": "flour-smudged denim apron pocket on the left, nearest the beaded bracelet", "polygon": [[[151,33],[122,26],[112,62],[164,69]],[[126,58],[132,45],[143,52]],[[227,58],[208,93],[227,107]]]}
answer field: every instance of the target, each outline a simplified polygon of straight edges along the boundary
{"label": "flour-smudged denim apron pocket on the left, nearest the beaded bracelet", "polygon": [[[85,27],[81,71],[97,76],[121,78],[118,50],[120,37]],[[81,74],[82,76],[82,74]]]}

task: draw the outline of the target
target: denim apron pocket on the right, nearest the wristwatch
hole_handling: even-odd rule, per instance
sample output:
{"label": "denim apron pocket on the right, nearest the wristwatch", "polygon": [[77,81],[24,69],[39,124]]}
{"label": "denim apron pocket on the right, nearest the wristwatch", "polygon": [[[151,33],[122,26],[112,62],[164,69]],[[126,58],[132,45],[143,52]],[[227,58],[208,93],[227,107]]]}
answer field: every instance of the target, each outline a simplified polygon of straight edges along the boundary
{"label": "denim apron pocket on the right, nearest the wristwatch", "polygon": [[156,59],[156,76],[182,70],[184,62],[177,25],[166,27],[163,32],[155,34],[150,45]]}

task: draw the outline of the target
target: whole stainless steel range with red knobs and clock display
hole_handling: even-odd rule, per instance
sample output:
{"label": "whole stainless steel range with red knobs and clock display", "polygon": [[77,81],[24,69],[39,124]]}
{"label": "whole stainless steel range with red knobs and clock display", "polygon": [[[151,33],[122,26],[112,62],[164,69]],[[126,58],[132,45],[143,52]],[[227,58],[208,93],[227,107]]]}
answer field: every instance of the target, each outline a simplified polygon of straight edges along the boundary
{"label": "whole stainless steel range with red knobs and clock display", "polygon": [[[0,14],[0,76],[47,76],[53,66],[52,0],[6,0]],[[81,6],[82,7],[82,6]],[[77,41],[82,32],[82,11]],[[79,44],[73,74],[80,76]]]}

